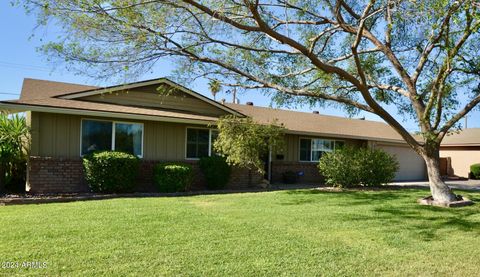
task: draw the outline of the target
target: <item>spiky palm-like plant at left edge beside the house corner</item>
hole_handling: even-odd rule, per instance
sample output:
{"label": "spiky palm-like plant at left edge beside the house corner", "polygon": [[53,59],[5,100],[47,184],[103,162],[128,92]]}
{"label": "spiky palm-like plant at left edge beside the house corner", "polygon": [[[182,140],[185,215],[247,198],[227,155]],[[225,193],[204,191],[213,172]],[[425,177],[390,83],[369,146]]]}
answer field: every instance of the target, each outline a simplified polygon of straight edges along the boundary
{"label": "spiky palm-like plant at left edge beside the house corner", "polygon": [[7,176],[26,162],[30,130],[24,116],[0,113],[0,192],[5,190]]}

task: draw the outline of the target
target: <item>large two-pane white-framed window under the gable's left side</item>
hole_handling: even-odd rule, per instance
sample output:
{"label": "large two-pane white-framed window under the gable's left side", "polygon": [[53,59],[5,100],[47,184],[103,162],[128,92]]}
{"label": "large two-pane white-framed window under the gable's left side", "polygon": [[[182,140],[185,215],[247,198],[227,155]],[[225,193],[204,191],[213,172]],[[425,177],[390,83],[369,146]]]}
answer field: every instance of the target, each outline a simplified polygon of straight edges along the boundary
{"label": "large two-pane white-framed window under the gable's left side", "polygon": [[143,157],[143,123],[82,119],[80,155],[109,150]]}

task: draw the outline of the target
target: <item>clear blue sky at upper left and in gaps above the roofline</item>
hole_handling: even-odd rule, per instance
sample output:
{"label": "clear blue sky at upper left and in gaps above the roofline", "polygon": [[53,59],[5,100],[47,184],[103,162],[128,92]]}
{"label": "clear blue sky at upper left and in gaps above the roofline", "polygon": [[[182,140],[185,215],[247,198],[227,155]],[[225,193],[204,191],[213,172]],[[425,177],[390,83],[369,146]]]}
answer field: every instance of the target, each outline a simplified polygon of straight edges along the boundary
{"label": "clear blue sky at upper left and in gaps above the roofline", "polygon": [[[48,63],[36,48],[42,44],[42,40],[55,38],[58,33],[53,26],[46,29],[34,31],[35,18],[25,15],[21,8],[12,7],[10,1],[0,1],[0,34],[2,42],[0,43],[0,100],[17,99],[22,86],[23,78],[46,79],[61,82],[72,82],[90,85],[114,85],[112,83],[99,83],[99,81],[78,76],[67,71],[61,65],[53,67]],[[32,37],[32,34],[35,36]],[[168,77],[172,74],[172,63],[164,61],[158,64],[153,72],[146,73],[139,80],[153,79],[158,77]],[[137,80],[137,81],[139,81]],[[197,81],[193,84],[187,84],[195,91],[211,97],[208,86],[204,81]],[[231,101],[231,96],[224,92],[217,95],[217,99],[225,98]],[[240,94],[241,103],[253,101],[258,106],[269,106],[270,99],[256,92]],[[346,114],[335,108],[311,108],[299,107],[298,110],[311,112],[319,110],[322,114],[346,116]],[[379,117],[369,113],[361,113],[357,117],[366,117],[370,120],[381,120]],[[409,131],[417,130],[416,124],[411,121],[399,120]],[[463,122],[463,121],[462,121]],[[469,127],[480,127],[480,111],[470,113],[468,117]]]}

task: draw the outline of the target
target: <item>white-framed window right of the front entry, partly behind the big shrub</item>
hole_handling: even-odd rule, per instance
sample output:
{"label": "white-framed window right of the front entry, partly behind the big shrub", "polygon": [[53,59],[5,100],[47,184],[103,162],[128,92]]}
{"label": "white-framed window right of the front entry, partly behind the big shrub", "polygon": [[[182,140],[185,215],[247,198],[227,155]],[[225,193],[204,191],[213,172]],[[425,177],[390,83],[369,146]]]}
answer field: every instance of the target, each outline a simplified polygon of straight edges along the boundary
{"label": "white-framed window right of the front entry, partly behind the big shrub", "polygon": [[300,138],[300,161],[318,162],[323,153],[332,152],[344,144],[345,142],[341,140]]}

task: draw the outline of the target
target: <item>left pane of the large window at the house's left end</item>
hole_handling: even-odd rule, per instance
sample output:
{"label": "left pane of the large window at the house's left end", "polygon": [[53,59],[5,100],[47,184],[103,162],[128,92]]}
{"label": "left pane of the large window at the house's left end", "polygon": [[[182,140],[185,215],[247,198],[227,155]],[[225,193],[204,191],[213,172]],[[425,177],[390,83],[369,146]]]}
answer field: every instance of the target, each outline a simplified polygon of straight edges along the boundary
{"label": "left pane of the large window at the house's left end", "polygon": [[112,122],[82,121],[82,155],[112,150]]}

